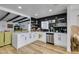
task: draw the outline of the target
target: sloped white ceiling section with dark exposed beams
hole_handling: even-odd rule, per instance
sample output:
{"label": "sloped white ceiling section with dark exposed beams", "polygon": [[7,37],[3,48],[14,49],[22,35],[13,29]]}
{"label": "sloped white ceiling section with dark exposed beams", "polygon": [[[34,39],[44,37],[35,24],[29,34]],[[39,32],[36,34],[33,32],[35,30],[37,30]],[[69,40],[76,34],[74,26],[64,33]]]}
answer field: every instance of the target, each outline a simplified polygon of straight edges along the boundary
{"label": "sloped white ceiling section with dark exposed beams", "polygon": [[3,10],[0,10],[0,21],[7,21],[7,22],[24,22],[28,21],[28,17],[24,17],[21,15],[16,15],[10,12],[6,12]]}

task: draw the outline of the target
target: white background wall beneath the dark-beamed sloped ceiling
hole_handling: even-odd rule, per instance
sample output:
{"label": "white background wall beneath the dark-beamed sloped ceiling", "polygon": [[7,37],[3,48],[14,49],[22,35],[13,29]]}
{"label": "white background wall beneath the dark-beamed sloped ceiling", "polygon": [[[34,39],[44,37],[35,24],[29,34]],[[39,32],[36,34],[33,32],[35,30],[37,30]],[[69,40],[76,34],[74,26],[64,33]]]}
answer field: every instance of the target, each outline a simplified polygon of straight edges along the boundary
{"label": "white background wall beneath the dark-beamed sloped ceiling", "polygon": [[[13,28],[7,28],[7,24],[13,24]],[[6,21],[0,21],[0,31],[14,31],[14,26],[18,23],[12,23],[12,22],[6,22]],[[23,29],[27,29],[28,31],[31,30],[31,24],[30,22],[23,22],[20,23],[21,27]]]}

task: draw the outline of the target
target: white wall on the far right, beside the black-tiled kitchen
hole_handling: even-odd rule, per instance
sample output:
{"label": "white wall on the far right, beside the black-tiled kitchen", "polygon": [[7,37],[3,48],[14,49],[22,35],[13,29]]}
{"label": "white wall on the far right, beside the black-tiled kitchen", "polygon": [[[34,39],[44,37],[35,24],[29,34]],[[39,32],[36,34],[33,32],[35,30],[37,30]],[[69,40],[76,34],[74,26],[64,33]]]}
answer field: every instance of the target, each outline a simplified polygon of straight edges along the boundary
{"label": "white wall on the far right, beside the black-tiled kitchen", "polygon": [[79,5],[69,5],[67,8],[67,51],[71,52],[71,26],[78,26]]}

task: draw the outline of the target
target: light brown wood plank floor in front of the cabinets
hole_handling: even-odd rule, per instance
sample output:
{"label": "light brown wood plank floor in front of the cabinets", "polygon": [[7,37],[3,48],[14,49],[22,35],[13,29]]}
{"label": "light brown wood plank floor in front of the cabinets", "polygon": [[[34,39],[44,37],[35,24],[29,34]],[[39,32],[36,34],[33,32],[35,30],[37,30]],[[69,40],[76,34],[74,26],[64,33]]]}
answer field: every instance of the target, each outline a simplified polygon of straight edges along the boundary
{"label": "light brown wood plank floor in front of the cabinets", "polygon": [[66,54],[68,53],[65,48],[45,44],[41,41],[35,41],[26,45],[18,50],[11,45],[0,48],[0,54]]}

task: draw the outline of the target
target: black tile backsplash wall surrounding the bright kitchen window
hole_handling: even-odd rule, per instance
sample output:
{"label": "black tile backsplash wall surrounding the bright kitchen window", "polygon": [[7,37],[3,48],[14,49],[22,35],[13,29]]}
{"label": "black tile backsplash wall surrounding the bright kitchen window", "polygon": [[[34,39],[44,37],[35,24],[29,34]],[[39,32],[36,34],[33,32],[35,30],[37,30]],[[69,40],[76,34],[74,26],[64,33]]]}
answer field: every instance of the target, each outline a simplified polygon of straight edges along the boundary
{"label": "black tile backsplash wall surrounding the bright kitchen window", "polygon": [[[47,17],[42,17],[42,18],[32,18],[32,21],[34,21],[36,28],[41,28],[41,22],[42,21],[49,21],[49,20],[56,20],[55,23],[49,23],[49,30],[46,29],[41,29],[42,31],[54,31],[56,32],[67,32],[67,26],[57,26],[58,23],[66,23],[67,24],[67,13],[62,13],[58,15],[51,15]],[[32,23],[32,24],[34,24]],[[51,27],[53,29],[51,30]]]}

